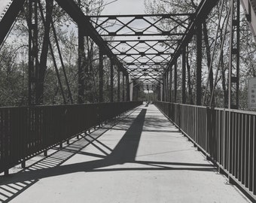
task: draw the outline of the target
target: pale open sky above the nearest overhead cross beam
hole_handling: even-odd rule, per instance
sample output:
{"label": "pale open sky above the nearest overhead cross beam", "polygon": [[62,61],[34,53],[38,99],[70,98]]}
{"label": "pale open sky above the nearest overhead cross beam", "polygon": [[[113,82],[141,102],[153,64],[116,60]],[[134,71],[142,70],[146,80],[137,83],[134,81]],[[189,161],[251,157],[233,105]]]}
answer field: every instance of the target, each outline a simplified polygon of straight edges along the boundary
{"label": "pale open sky above the nearest overhead cross beam", "polygon": [[[105,3],[114,0],[105,0]],[[102,15],[145,14],[144,0],[117,0],[105,6]]]}

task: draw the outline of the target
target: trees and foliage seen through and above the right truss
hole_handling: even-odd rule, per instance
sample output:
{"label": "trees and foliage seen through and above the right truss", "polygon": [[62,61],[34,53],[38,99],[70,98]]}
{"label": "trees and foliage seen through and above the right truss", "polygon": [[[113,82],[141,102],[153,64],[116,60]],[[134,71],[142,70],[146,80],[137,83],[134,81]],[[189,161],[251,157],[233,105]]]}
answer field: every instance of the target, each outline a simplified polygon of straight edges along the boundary
{"label": "trees and foliage seen through and above the right truss", "polygon": [[[175,0],[175,1],[166,1],[166,0],[145,0],[146,11],[148,14],[178,14],[178,13],[193,13],[196,11],[197,6],[200,1],[193,0]],[[209,63],[211,62],[213,47],[215,44],[215,33],[218,27],[218,18],[220,16],[221,11],[221,1],[219,4],[213,9],[213,11],[209,14],[206,19],[205,28],[206,30],[203,32],[203,93],[206,92],[206,104],[209,102],[209,98],[211,95],[211,85],[206,89],[207,80],[209,77]],[[221,40],[226,35],[224,42],[224,50],[223,56],[221,59],[220,71],[218,71],[218,75],[216,77],[217,85],[215,88],[215,105],[218,107],[224,107],[227,104],[227,85],[228,85],[228,67],[229,67],[229,41],[230,41],[230,24],[228,24],[227,32],[224,33],[224,25],[229,20],[227,17],[227,11],[229,8],[228,1],[224,2],[224,12],[221,15],[221,28],[218,33],[218,38],[216,41],[216,51],[215,57],[213,58],[212,64],[212,74],[215,77],[218,67],[218,59],[221,50]],[[242,8],[241,8],[242,11]],[[248,27],[248,23],[245,19],[245,14],[241,12],[240,15],[241,23],[240,23],[240,89],[239,89],[239,99],[240,99],[240,107],[245,109],[247,106],[247,80],[249,77],[255,77],[255,50],[256,44],[252,38],[251,31]],[[169,23],[171,26],[172,23]],[[209,41],[206,41],[206,38]],[[190,103],[189,95],[189,86],[192,88],[191,97],[193,101],[195,101],[196,94],[196,46],[195,46],[196,36],[194,36],[193,40],[190,41],[190,44],[187,47],[187,54],[189,61],[187,65],[190,66],[190,83],[187,83],[187,103]],[[181,76],[181,62],[178,61],[178,75]],[[180,89],[181,89],[181,79],[178,77],[178,97],[180,97]],[[188,81],[188,76],[187,79]],[[211,79],[209,79],[211,83]],[[212,84],[215,82],[214,78],[212,78]],[[203,98],[202,98],[203,99]],[[221,101],[221,102],[220,102]]]}

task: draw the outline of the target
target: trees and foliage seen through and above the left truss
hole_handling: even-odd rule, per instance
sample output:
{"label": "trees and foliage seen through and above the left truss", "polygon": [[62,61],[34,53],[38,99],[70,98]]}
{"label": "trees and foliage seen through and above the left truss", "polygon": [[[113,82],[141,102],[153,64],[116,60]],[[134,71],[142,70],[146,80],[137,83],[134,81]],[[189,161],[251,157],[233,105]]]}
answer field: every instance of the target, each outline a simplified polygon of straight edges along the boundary
{"label": "trees and foliage seen through and above the left truss", "polygon": [[[43,8],[44,19],[46,15],[46,1],[40,0]],[[76,0],[75,2],[81,7],[86,15],[97,15],[104,8],[103,0]],[[39,8],[39,7],[38,7]],[[59,5],[53,4],[53,25],[56,29],[58,44],[61,50],[61,56],[64,66],[62,67],[56,41],[53,35],[53,29],[50,29],[50,44],[53,47],[53,54],[47,51],[47,68],[44,74],[44,105],[63,104],[63,96],[68,103],[69,89],[72,92],[74,103],[78,102],[78,26],[73,22],[71,17],[66,14]],[[24,5],[23,11],[17,18],[8,38],[0,50],[0,106],[20,106],[28,105],[28,46],[29,46],[29,29],[28,29],[28,5]],[[45,26],[43,18],[38,9],[38,59],[43,54]],[[85,100],[84,102],[98,102],[99,100],[99,47],[89,37],[84,37],[85,50]],[[56,68],[53,63],[56,60]],[[39,61],[40,63],[40,61]],[[57,80],[56,70],[59,72]],[[104,101],[109,101],[110,96],[110,61],[104,57]],[[64,71],[68,80],[66,80]],[[117,100],[117,68],[114,69],[114,98]],[[121,80],[121,86],[122,86]],[[122,90],[122,89],[121,89]],[[120,93],[122,98],[122,92]]]}

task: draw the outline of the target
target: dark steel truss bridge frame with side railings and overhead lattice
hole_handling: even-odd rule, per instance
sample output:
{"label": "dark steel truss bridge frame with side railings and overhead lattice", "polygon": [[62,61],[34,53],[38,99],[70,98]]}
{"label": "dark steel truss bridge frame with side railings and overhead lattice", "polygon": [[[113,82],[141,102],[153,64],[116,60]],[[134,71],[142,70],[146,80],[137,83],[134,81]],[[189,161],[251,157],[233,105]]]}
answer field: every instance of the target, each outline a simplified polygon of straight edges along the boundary
{"label": "dark steel truss bridge frame with side railings and overhead lattice", "polygon": [[[228,71],[228,81],[230,82],[228,84],[227,109],[224,110],[216,110],[213,107],[222,54],[222,52],[218,52],[220,56],[215,56],[218,49],[216,45],[218,33],[213,44],[214,50],[206,83],[206,89],[210,89],[208,99],[206,99],[206,91],[203,92],[202,87],[203,23],[206,22],[210,12],[217,9],[216,5],[219,2],[221,2],[218,8],[220,13],[223,12],[225,3],[228,2],[229,5],[229,20],[224,29],[225,33],[226,31],[230,33]],[[5,174],[8,174],[8,169],[17,163],[22,163],[24,166],[26,160],[30,157],[41,152],[47,153],[47,149],[63,141],[68,141],[71,135],[78,135],[79,132],[100,125],[105,120],[135,108],[141,104],[137,102],[139,89],[142,86],[147,86],[147,89],[150,87],[158,94],[157,107],[184,134],[188,135],[191,141],[212,162],[219,166],[221,172],[227,174],[230,182],[238,184],[250,198],[255,200],[256,117],[253,113],[235,110],[239,107],[240,3],[245,10],[248,25],[255,38],[256,1],[254,0],[202,0],[194,13],[119,16],[88,16],[84,14],[75,0],[46,0],[44,5],[38,0],[1,0],[0,44],[5,43],[5,39],[17,17],[23,11],[23,5],[28,5],[26,20],[29,28],[29,105],[23,108],[0,108],[0,171],[5,171]],[[74,105],[74,95],[72,95],[65,74],[65,65],[62,61],[62,53],[51,16],[53,5],[62,8],[78,26],[79,105]],[[43,11],[46,11],[46,15]],[[39,17],[44,24],[44,38],[42,41],[38,41]],[[163,26],[164,23],[169,24],[169,26]],[[218,21],[218,30],[220,26],[221,17]],[[53,32],[54,42],[50,40],[51,32]],[[90,56],[86,56],[84,48],[88,38],[99,47],[99,104],[84,105],[85,90],[87,89],[85,76],[90,72],[88,68],[90,65],[86,64],[88,62],[87,57]],[[187,103],[186,77],[188,74],[187,56],[189,54],[187,47],[193,38],[196,47],[195,72],[197,81],[195,86],[197,107],[185,105]],[[41,50],[39,50],[39,42],[43,44]],[[63,92],[58,67],[54,62],[53,43],[57,47],[60,65],[66,77],[68,95]],[[224,40],[221,41],[221,49],[223,46]],[[42,106],[44,104],[44,75],[47,67],[48,51],[53,56],[63,102],[71,105]],[[41,57],[39,57],[39,53],[41,53]],[[111,62],[110,103],[104,103],[103,98],[104,57],[108,57]],[[218,57],[217,68],[213,67],[215,57]],[[178,60],[181,62],[178,63]],[[211,76],[213,69],[215,70],[215,77]],[[114,101],[114,70],[117,70],[116,101]],[[181,72],[181,87],[178,84],[178,71]],[[212,84],[209,82],[210,77],[215,79]],[[122,81],[123,86],[121,86],[120,81]],[[123,89],[123,95],[120,95],[121,89]],[[181,89],[181,99],[179,101],[181,104],[177,104],[178,89]],[[90,119],[85,114],[93,115],[93,117]],[[77,115],[79,119],[76,118]],[[206,128],[199,128],[200,123],[190,122],[184,115],[189,115],[187,118],[191,120],[203,117],[207,123]],[[26,117],[26,119],[23,119],[23,117]],[[79,122],[80,119],[86,120],[86,122],[81,123]],[[221,123],[223,122],[225,129],[222,129],[223,125]],[[62,129],[61,126],[66,125],[72,127]],[[248,130],[246,130],[247,127]],[[49,132],[48,137],[43,138],[46,132]],[[202,137],[204,133],[207,135],[206,138]],[[53,134],[58,134],[59,137],[53,137]],[[233,134],[235,137],[233,137]],[[22,136],[25,135],[26,139],[22,139]],[[224,136],[224,138],[221,136]],[[20,143],[21,145],[19,145]],[[239,168],[239,164],[243,165],[242,169]]]}

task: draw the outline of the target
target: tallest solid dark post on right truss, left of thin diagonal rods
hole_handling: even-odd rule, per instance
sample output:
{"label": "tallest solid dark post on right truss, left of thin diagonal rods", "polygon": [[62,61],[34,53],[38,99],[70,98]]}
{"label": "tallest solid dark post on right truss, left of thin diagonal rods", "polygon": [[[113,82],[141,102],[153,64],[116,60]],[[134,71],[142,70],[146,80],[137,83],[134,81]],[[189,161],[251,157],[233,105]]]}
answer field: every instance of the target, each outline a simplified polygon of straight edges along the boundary
{"label": "tallest solid dark post on right truss, left of thin diagonal rods", "polygon": [[197,26],[197,105],[202,99],[202,23]]}

